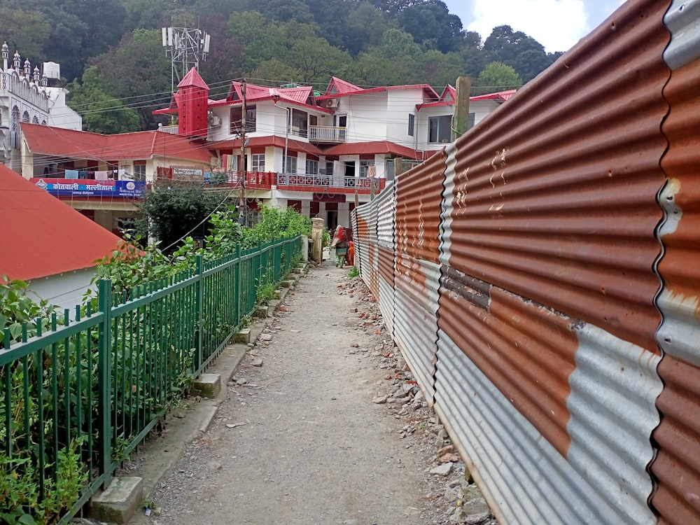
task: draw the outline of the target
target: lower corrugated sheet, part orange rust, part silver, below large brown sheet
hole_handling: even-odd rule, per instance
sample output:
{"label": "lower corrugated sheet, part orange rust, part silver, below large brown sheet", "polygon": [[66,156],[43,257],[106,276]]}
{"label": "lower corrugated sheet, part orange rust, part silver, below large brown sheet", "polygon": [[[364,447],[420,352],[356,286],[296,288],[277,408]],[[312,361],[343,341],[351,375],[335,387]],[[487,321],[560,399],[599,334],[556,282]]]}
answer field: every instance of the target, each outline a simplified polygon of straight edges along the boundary
{"label": "lower corrugated sheet, part orange rust, part silver, below large brown sheet", "polygon": [[[521,483],[521,472],[510,468],[511,462],[532,461],[519,455],[531,451],[481,435],[480,447],[469,453],[472,461],[488,463],[489,458],[478,457],[482,449],[510,458],[497,475],[491,470],[479,474],[491,497],[517,497],[545,514],[547,523],[554,515],[577,515],[575,521],[563,522],[653,524],[656,519],[647,505],[652,481],[646,466],[654,456],[649,437],[659,423],[654,405],[662,388],[655,372],[659,356],[454,269],[444,272],[441,291],[440,335],[445,334],[449,344],[437,342],[435,409],[449,412],[456,429],[453,439],[465,449],[475,447],[468,443],[473,436],[462,429],[482,421],[472,419],[477,403],[472,386],[444,364],[462,360],[449,355],[458,349],[468,365],[487,378],[491,391],[498,387],[491,395],[506,400],[532,426],[527,432],[535,431],[548,450],[568,460],[562,464],[561,458],[547,454],[538,460],[537,472],[531,472],[540,479],[556,471],[558,490],[570,495],[566,501],[540,500],[536,490],[516,494],[512,487]],[[459,392],[462,384],[464,391]],[[498,399],[482,392],[479,400],[487,406],[479,411],[488,413]],[[489,417],[500,416],[505,421],[492,424],[511,428],[513,440],[527,442],[522,422],[514,425],[512,413],[493,412]],[[538,522],[538,513],[514,515],[509,521]]]}

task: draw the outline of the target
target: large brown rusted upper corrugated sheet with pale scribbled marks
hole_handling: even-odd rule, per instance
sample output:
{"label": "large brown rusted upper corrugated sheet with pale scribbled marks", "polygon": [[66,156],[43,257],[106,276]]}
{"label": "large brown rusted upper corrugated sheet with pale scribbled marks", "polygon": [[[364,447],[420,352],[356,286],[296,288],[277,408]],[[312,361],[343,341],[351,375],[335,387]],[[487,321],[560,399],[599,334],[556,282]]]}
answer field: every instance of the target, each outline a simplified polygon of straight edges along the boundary
{"label": "large brown rusted upper corrugated sheet with pale scribbled marks", "polygon": [[449,265],[652,351],[667,7],[625,3],[458,139],[447,210]]}

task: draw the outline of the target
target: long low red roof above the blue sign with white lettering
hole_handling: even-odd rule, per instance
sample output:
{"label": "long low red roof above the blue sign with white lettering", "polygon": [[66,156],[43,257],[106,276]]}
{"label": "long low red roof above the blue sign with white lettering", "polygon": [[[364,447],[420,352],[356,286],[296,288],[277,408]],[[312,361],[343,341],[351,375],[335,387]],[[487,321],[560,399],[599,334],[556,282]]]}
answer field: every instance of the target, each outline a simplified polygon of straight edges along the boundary
{"label": "long low red roof above the blue sign with white lettering", "polygon": [[172,157],[209,163],[201,142],[160,131],[102,135],[39,124],[21,126],[31,153],[92,160]]}

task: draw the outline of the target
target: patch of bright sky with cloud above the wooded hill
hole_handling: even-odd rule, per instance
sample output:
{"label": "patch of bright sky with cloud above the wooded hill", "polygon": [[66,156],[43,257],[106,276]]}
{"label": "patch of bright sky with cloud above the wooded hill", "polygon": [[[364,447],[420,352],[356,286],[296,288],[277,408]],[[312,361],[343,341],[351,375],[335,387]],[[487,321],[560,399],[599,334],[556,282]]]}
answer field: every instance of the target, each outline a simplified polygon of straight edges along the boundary
{"label": "patch of bright sky with cloud above the wooded hill", "polygon": [[547,52],[567,51],[601,25],[622,0],[443,0],[462,27],[482,40],[499,25],[510,25],[545,46]]}

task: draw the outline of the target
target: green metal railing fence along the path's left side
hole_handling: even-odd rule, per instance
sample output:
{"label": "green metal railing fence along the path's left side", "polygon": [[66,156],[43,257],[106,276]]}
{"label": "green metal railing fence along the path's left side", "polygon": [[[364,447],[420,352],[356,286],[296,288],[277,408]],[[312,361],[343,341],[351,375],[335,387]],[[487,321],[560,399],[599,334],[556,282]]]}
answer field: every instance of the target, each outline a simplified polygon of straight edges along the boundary
{"label": "green metal railing fence along the path's left side", "polygon": [[43,333],[37,321],[31,339],[25,326],[22,342],[0,349],[0,518],[28,486],[35,512],[49,502],[73,517],[225,348],[258,286],[279,283],[300,251],[294,237],[198,257],[195,269],[120,297],[99,281],[97,311],[66,310]]}

